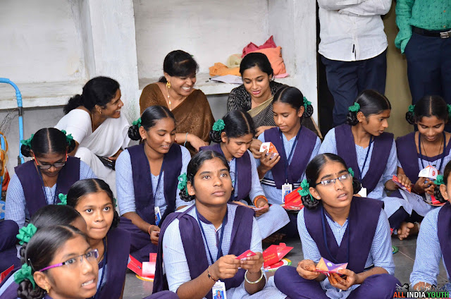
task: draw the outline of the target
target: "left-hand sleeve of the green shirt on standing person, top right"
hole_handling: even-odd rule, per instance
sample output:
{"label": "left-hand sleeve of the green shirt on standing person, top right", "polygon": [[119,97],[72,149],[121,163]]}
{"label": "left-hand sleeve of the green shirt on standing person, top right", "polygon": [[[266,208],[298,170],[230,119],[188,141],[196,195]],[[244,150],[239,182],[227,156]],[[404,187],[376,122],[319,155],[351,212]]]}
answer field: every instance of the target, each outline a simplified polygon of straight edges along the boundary
{"label": "left-hand sleeve of the green shirt on standing person, top right", "polygon": [[415,0],[397,0],[396,2],[396,25],[400,28],[395,39],[395,46],[401,49],[401,53],[404,53],[404,49],[412,37],[412,26],[409,24],[410,18],[412,18],[412,7]]}

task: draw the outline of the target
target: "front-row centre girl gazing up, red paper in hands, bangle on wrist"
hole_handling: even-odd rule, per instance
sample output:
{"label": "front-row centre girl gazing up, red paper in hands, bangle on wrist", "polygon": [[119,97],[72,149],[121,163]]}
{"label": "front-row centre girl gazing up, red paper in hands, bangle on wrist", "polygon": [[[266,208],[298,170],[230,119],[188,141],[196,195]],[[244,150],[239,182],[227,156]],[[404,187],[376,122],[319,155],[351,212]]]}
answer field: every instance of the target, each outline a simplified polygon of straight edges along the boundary
{"label": "front-row centre girl gazing up, red paper in hands, bangle on wrist", "polygon": [[[228,205],[232,180],[217,152],[196,154],[181,179],[180,196],[194,200],[170,214],[161,227],[154,293],[169,289],[180,298],[285,298],[266,281],[261,236],[252,209]],[[236,257],[252,250],[253,256]]]}

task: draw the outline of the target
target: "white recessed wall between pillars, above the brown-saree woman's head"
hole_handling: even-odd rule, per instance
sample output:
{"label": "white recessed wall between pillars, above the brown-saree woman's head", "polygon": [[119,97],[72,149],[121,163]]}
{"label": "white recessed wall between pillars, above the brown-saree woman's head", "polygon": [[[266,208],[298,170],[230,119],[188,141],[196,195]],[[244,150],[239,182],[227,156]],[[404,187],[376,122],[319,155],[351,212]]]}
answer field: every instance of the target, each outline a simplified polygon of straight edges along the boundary
{"label": "white recessed wall between pillars, above the brown-saree woman's head", "polygon": [[194,55],[201,73],[215,62],[241,53],[249,42],[263,44],[268,0],[133,0],[139,78],[163,75],[166,54]]}

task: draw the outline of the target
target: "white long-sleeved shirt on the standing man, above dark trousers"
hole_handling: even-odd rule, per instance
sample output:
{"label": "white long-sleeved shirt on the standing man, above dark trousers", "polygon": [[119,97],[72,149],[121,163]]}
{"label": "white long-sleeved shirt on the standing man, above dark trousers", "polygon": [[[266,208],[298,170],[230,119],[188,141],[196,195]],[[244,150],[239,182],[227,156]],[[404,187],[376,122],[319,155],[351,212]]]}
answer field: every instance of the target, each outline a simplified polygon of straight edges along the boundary
{"label": "white long-sleeved shirt on the standing man, above dark trousers", "polygon": [[381,15],[390,11],[391,4],[391,0],[318,0],[319,54],[337,61],[381,54],[388,46]]}

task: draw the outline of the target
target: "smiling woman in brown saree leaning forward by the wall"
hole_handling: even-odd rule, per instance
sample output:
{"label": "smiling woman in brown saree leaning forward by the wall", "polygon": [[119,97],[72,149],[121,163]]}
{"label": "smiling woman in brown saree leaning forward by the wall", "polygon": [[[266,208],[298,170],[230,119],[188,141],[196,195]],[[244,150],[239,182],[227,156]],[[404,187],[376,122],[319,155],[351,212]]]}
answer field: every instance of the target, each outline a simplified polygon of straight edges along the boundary
{"label": "smiling woman in brown saree leaning forward by the wall", "polygon": [[185,51],[175,50],[166,55],[163,77],[144,87],[140,97],[141,114],[149,106],[167,107],[175,116],[175,142],[185,146],[190,154],[210,144],[209,133],[214,123],[204,92],[194,89],[197,62]]}

